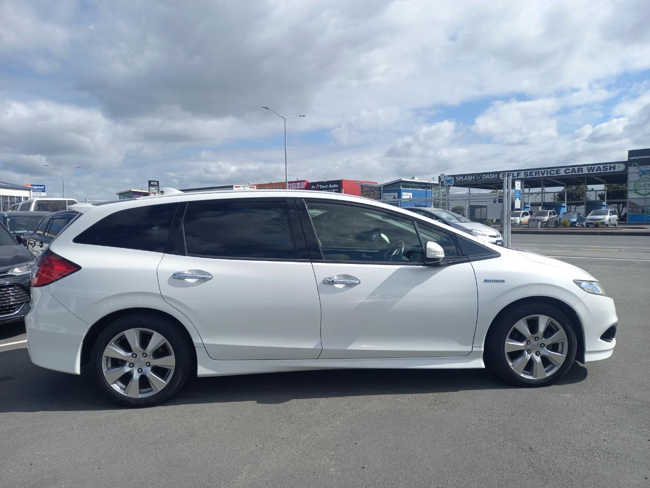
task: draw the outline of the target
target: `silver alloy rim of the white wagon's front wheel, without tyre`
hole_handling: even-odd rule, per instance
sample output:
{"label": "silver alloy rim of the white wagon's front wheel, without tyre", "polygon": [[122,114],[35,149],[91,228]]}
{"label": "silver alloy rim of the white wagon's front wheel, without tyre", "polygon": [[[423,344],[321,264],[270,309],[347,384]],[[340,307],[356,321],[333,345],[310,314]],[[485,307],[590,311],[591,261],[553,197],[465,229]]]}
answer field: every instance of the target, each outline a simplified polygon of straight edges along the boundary
{"label": "silver alloy rim of the white wagon's front wheel, without tyre", "polygon": [[525,379],[545,379],[564,364],[569,342],[551,317],[530,315],[512,326],[504,344],[508,366]]}

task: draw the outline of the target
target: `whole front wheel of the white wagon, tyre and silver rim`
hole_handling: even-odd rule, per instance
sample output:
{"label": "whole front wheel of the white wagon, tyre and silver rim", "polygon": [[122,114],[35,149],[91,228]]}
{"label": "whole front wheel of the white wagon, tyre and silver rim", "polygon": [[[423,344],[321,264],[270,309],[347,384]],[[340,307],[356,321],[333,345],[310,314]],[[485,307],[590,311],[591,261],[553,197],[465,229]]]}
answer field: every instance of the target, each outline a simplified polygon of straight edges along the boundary
{"label": "whole front wheel of the white wagon, tyre and silver rim", "polygon": [[571,368],[576,348],[575,331],[561,310],[547,304],[520,305],[492,325],[485,360],[513,385],[544,386]]}

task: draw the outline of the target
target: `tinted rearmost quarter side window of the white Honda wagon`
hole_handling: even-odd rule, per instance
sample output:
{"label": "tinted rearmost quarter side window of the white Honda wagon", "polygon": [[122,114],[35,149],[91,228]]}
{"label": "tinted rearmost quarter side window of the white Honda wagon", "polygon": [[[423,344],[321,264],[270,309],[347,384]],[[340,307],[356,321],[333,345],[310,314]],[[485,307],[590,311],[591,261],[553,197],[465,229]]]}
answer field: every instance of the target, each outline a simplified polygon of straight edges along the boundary
{"label": "tinted rearmost quarter side window of the white Honda wagon", "polygon": [[78,244],[164,252],[178,204],[150,205],[111,213],[73,239]]}

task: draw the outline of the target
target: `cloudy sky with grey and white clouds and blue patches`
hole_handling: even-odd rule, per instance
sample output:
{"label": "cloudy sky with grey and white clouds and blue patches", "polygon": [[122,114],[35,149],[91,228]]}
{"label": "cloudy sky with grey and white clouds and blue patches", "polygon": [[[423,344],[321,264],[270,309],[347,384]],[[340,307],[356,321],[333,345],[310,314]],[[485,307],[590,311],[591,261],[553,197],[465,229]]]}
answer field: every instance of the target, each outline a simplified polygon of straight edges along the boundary
{"label": "cloudy sky with grey and white clouds and blue patches", "polygon": [[[489,6],[488,6],[489,5]],[[0,0],[0,180],[66,194],[650,147],[650,3]]]}

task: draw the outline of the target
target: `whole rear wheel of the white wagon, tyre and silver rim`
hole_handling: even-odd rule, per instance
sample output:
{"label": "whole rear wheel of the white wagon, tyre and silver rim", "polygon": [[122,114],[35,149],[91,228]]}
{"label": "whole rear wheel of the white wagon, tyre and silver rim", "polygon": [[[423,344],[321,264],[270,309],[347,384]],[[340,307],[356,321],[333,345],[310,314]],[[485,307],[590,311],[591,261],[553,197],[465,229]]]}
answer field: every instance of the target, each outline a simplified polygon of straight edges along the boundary
{"label": "whole rear wheel of the white wagon, tyre and silver rim", "polygon": [[127,407],[149,407],[170,398],[192,368],[192,344],[177,325],[154,314],[116,319],[91,353],[100,390]]}

